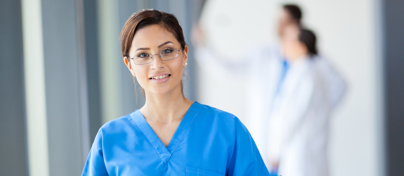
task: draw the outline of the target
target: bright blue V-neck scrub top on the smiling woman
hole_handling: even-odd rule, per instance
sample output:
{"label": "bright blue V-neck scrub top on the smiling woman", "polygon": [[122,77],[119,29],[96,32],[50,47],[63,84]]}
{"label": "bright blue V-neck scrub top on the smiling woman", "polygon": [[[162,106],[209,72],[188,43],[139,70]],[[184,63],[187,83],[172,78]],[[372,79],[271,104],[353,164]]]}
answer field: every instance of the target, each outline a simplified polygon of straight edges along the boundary
{"label": "bright blue V-neck scrub top on the smiling woman", "polygon": [[269,176],[241,121],[194,102],[166,147],[139,110],[104,124],[82,176]]}

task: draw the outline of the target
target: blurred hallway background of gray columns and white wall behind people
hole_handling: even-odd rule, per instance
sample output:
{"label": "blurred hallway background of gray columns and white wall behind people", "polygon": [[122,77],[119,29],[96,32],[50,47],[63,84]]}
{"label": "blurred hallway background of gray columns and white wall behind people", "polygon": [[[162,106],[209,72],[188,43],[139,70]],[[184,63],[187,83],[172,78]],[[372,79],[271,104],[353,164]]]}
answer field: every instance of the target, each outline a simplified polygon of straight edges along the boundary
{"label": "blurred hallway background of gray columns and white wall behind people", "polygon": [[191,29],[199,21],[206,42],[237,60],[239,48],[276,40],[284,3],[302,8],[347,82],[331,119],[330,175],[403,176],[403,0],[0,0],[0,175],[80,175],[99,127],[143,105],[118,39],[143,8],[180,21],[185,96],[245,120],[245,81],[201,68]]}

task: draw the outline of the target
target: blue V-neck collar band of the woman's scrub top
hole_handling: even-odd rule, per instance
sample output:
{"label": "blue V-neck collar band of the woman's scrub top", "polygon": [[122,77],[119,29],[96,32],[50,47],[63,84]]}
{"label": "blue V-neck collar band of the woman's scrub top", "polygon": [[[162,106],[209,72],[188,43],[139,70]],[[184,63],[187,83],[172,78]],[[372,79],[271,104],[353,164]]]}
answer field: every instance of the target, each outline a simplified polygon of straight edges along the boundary
{"label": "blue V-neck collar band of the woman's scrub top", "polygon": [[133,121],[136,123],[136,125],[139,127],[140,131],[142,131],[143,135],[149,141],[150,145],[152,145],[157,154],[159,154],[161,160],[164,163],[167,163],[200,109],[201,104],[199,104],[198,102],[192,103],[191,107],[189,107],[188,111],[185,113],[185,116],[182,118],[177,129],[175,130],[174,135],[167,147],[159,139],[159,137],[153,131],[149,123],[147,123],[146,119],[139,110],[133,112],[131,117],[133,118]]}

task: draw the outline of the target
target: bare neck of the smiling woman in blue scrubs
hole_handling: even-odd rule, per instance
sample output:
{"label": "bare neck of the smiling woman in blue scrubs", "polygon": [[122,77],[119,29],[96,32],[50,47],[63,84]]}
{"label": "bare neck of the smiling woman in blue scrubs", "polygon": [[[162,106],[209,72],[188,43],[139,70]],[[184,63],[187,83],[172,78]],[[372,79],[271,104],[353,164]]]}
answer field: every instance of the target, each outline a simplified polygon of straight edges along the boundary
{"label": "bare neck of the smiling woman in blue scrubs", "polygon": [[146,120],[170,123],[182,119],[192,103],[184,97],[181,87],[164,95],[146,92],[146,102],[140,112]]}

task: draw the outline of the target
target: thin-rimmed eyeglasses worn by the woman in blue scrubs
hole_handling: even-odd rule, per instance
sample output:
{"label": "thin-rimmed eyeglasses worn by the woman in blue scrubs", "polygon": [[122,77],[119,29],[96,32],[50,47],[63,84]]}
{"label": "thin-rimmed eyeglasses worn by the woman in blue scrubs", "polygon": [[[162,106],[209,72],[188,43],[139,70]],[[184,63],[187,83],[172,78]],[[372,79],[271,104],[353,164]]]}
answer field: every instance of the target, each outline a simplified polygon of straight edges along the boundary
{"label": "thin-rimmed eyeglasses worn by the woman in blue scrubs", "polygon": [[[171,60],[171,59],[178,58],[180,51],[182,51],[182,48],[181,48],[181,50],[166,49],[166,50],[163,50],[162,52],[160,52],[159,54],[155,54],[155,55],[159,55],[160,59],[162,59],[162,60]],[[154,55],[152,55],[152,54],[142,53],[142,54],[136,55],[135,57],[130,58],[130,59],[133,59],[133,61],[137,65],[143,65],[143,64],[151,63],[154,58],[153,56]]]}

